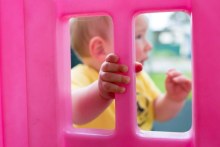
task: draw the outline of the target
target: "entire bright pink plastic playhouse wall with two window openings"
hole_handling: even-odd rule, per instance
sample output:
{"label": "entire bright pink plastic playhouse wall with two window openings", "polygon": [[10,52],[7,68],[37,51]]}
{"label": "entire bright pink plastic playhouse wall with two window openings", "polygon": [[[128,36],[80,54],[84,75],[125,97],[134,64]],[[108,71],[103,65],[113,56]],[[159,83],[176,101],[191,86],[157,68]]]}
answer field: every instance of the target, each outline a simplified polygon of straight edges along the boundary
{"label": "entire bright pink plastic playhouse wall with two window openings", "polygon": [[[0,0],[0,8],[0,137],[3,133],[4,142],[0,146],[220,146],[218,0]],[[140,132],[133,71],[128,73],[133,78],[127,93],[116,99],[115,130],[71,128],[68,18],[110,15],[115,52],[132,67],[134,15],[176,10],[192,15],[192,129],[186,133]]]}

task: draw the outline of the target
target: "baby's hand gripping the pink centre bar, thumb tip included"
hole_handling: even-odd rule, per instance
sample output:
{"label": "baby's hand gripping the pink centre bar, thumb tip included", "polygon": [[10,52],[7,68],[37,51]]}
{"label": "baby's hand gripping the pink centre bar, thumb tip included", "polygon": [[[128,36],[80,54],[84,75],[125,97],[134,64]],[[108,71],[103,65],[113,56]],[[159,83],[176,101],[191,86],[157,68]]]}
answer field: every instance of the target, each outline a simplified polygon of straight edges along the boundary
{"label": "baby's hand gripping the pink centre bar, thumb tip included", "polygon": [[[119,57],[115,54],[109,54],[105,62],[102,63],[99,72],[99,94],[104,99],[114,99],[115,93],[124,93],[125,88],[120,86],[122,84],[128,84],[130,78],[123,75],[128,71],[126,65],[118,63]],[[142,70],[140,63],[135,64],[135,71],[139,72]]]}

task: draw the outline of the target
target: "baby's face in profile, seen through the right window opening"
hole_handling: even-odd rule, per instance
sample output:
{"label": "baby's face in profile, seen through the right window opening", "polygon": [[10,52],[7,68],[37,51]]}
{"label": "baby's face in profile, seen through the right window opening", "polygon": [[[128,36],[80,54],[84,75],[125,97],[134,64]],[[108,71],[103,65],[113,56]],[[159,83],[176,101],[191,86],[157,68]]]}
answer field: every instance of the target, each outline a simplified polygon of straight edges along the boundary
{"label": "baby's face in profile, seen through the right window opening", "polygon": [[148,59],[148,54],[152,49],[151,44],[146,39],[148,23],[144,15],[139,15],[135,19],[135,50],[136,61],[144,63]]}

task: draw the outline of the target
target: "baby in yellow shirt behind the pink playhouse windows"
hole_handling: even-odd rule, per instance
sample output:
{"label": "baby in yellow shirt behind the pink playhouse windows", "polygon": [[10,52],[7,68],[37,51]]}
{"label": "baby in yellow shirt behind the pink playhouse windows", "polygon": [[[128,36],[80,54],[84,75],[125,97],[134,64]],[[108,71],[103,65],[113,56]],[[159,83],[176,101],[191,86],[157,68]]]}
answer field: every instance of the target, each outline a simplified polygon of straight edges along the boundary
{"label": "baby in yellow shirt behind the pink playhouse windows", "polygon": [[[152,49],[146,40],[147,30],[145,16],[137,16],[137,123],[143,130],[151,130],[154,120],[166,121],[176,116],[191,91],[191,81],[175,69],[167,72],[165,94],[158,90],[146,72],[140,71],[140,63],[144,64]],[[115,93],[124,93],[126,89],[119,85],[128,84],[130,78],[121,74],[129,69],[119,64],[119,57],[113,53],[110,17],[84,17],[71,22],[71,45],[83,63],[71,70],[73,123],[80,128],[113,129]]]}

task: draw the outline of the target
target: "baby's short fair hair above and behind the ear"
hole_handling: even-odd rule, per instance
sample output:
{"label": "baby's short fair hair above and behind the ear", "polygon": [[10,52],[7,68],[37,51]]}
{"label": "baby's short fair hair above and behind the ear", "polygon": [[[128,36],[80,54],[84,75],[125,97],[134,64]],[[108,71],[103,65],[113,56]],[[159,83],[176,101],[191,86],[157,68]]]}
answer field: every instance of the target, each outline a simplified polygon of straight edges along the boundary
{"label": "baby's short fair hair above and behind the ear", "polygon": [[89,41],[100,36],[109,40],[112,21],[109,16],[80,17],[71,20],[71,47],[80,58],[90,57]]}

